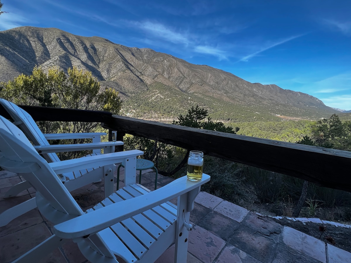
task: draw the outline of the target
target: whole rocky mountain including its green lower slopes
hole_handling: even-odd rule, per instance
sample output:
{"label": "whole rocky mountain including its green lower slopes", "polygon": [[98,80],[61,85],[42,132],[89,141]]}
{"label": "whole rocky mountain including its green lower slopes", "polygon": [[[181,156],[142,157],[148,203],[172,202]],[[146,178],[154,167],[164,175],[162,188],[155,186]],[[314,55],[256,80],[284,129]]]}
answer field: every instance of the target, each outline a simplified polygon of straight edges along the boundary
{"label": "whole rocky mountain including its green lower slopes", "polygon": [[227,121],[317,119],[338,112],[311,95],[250,83],[148,48],[130,48],[57,28],[18,27],[0,32],[0,81],[31,74],[35,65],[91,71],[102,87],[120,92],[124,114],[137,117],[174,117],[194,104],[206,107],[214,119]]}

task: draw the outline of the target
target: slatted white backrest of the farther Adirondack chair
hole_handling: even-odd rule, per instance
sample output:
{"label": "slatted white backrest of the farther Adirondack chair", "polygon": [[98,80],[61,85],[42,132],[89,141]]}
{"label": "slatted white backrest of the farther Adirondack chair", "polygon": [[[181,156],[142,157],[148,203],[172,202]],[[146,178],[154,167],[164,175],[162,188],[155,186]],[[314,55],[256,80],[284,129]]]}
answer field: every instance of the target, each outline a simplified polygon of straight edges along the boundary
{"label": "slatted white backrest of the farther Adirondack chair", "polygon": [[[33,120],[32,116],[29,115],[24,109],[21,109],[16,104],[5,99],[0,99],[0,103],[12,117],[14,124],[16,124],[16,126],[27,134],[28,139],[31,140],[34,145],[50,145],[44,134],[39,129],[37,123],[35,123]],[[49,163],[60,161],[59,157],[55,153],[43,154],[43,156]]]}

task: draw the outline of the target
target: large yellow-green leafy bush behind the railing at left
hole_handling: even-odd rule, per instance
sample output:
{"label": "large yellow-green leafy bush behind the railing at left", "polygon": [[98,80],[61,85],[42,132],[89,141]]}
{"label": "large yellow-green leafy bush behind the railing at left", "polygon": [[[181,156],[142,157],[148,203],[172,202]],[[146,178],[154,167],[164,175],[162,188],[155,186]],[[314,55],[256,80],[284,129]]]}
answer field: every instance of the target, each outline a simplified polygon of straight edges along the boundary
{"label": "large yellow-green leafy bush behind the railing at left", "polygon": [[[46,74],[41,67],[34,67],[32,75],[21,74],[13,81],[0,82],[0,97],[19,105],[119,112],[122,102],[118,92],[112,88],[100,91],[100,83],[91,72],[73,67],[67,73],[53,67]],[[99,123],[93,122],[39,122],[38,125],[44,133],[88,133],[99,127]],[[65,140],[65,143],[85,141]],[[78,155],[61,153],[60,157]]]}

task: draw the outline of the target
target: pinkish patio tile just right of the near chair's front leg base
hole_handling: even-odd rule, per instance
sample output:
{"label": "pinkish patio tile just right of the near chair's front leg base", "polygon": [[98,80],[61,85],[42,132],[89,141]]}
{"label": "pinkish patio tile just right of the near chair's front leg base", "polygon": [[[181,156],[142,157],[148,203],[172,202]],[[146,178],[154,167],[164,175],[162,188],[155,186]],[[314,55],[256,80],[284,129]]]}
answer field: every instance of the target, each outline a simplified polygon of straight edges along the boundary
{"label": "pinkish patio tile just right of the near chair's front leg base", "polygon": [[189,232],[188,242],[188,251],[204,263],[212,263],[225,245],[223,239],[198,225]]}

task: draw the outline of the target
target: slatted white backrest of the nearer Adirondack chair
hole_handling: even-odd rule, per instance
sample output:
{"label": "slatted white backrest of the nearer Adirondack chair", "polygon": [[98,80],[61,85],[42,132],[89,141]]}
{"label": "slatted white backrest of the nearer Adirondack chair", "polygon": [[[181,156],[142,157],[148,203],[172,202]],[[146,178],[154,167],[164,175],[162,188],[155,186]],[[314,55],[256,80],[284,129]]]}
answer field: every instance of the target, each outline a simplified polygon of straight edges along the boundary
{"label": "slatted white backrest of the nearer Adirondack chair", "polygon": [[0,166],[9,171],[20,171],[24,178],[55,209],[69,215],[82,215],[83,211],[69,194],[49,164],[37,153],[24,133],[0,116]]}

